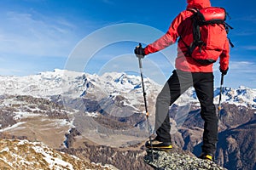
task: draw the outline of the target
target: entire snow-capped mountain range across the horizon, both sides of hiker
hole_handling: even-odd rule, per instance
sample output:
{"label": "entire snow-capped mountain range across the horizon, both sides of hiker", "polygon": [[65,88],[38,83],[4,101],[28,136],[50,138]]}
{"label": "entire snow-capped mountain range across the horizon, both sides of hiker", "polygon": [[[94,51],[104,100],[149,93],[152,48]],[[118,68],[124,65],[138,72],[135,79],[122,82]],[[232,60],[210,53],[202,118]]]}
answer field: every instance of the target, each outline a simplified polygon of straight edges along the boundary
{"label": "entire snow-capped mountain range across the horizon, both sides of hiker", "polygon": [[[154,101],[161,85],[149,78],[144,78],[144,83],[148,100]],[[41,98],[62,95],[72,99],[94,97],[97,100],[114,100],[122,96],[123,105],[135,106],[143,103],[141,77],[117,72],[99,76],[56,69],[26,77],[0,77],[1,94],[32,95]],[[214,102],[218,104],[219,88],[215,88],[214,96]],[[256,89],[243,86],[237,89],[224,88],[222,96],[222,102],[256,108]],[[193,88],[183,94],[177,104],[187,105],[191,102],[198,102]]]}

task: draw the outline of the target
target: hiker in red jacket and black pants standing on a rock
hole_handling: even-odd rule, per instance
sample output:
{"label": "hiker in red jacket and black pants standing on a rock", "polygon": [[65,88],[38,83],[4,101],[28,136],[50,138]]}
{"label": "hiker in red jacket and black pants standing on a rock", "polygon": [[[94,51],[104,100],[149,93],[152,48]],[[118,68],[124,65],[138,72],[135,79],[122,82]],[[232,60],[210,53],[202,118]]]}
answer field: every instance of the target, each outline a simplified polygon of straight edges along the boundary
{"label": "hiker in red jacket and black pants standing on a rock", "polygon": [[[186,10],[172,21],[166,34],[147,47],[135,48],[137,57],[158,52],[177,42],[176,69],[168,79],[156,99],[155,132],[156,138],[146,142],[153,149],[172,149],[169,106],[188,88],[194,87],[201,104],[201,118],[204,120],[202,159],[213,160],[218,142],[218,118],[213,105],[213,63],[219,58],[219,70],[223,75],[229,70],[230,44],[225,27],[220,24],[206,26],[207,32],[201,32],[205,40],[199,46],[193,46],[193,25],[191,16],[195,8],[211,7],[209,0],[187,0]],[[208,35],[209,34],[209,35]],[[177,41],[178,39],[178,41]],[[190,51],[189,51],[190,50]]]}

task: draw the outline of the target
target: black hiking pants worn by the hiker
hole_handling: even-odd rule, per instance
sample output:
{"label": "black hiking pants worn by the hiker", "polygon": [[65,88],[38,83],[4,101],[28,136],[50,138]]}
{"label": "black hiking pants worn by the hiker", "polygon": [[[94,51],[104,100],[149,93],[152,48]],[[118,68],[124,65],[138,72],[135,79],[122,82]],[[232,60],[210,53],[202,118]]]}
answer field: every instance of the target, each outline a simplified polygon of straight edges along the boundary
{"label": "black hiking pants worn by the hiker", "polygon": [[218,141],[218,120],[213,105],[213,74],[202,72],[173,71],[156,100],[156,139],[171,142],[169,106],[188,88],[194,87],[201,104],[201,118],[204,120],[202,152],[215,154]]}

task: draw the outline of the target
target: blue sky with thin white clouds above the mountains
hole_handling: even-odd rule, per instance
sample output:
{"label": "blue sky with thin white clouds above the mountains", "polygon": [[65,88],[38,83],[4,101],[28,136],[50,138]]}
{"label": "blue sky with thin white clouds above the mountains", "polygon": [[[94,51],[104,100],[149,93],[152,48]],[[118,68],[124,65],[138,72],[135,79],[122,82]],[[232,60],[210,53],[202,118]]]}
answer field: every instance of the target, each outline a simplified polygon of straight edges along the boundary
{"label": "blue sky with thin white clouds above the mountains", "polygon": [[[224,85],[256,88],[255,1],[212,0],[212,6],[226,8],[231,16],[228,23],[235,28],[229,37],[236,47],[231,48]],[[55,68],[96,74],[136,72],[137,59],[132,53],[137,42],[153,42],[185,7],[185,0],[1,0],[0,75],[26,76]],[[119,34],[113,26],[125,26],[124,35],[132,38],[114,42]],[[94,36],[96,40],[88,42],[88,37]],[[107,45],[98,47],[105,41]],[[86,47],[79,48],[81,44]],[[89,53],[93,48],[97,50]],[[175,46],[164,53],[150,54],[143,60],[145,74],[160,83],[172,74]],[[218,64],[214,70],[218,86]]]}

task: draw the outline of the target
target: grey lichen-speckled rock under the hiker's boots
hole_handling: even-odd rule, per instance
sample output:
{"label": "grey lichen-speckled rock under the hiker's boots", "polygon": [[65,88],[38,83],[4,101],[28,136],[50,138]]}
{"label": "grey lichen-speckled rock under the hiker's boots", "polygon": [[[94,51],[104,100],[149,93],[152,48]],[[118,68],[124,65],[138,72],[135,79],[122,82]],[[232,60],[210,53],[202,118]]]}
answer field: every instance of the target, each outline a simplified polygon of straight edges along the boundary
{"label": "grey lichen-speckled rock under the hiker's boots", "polygon": [[225,170],[213,161],[199,159],[183,150],[173,149],[172,151],[148,150],[148,155],[144,156],[144,161],[154,169],[159,170]]}

